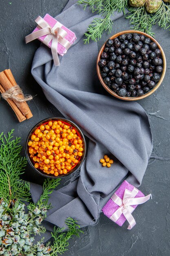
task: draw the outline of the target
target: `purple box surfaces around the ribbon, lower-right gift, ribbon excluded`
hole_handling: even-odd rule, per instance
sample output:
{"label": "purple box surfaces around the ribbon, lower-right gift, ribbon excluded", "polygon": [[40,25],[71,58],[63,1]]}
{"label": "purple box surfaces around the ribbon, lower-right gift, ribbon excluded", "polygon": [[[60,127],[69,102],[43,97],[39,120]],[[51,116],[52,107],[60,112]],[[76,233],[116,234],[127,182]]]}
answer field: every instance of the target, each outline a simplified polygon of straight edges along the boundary
{"label": "purple box surfaces around the ribbon, lower-right gift, ribbon excluded", "polygon": [[[119,198],[123,199],[125,189],[132,191],[134,189],[134,186],[128,183],[126,180],[124,180],[124,182],[119,186],[119,189],[117,189],[115,194],[119,196]],[[141,197],[144,197],[144,194],[139,190],[135,198],[141,198]],[[135,210],[137,205],[131,205],[131,207],[134,208]],[[117,211],[118,208],[119,208],[119,205],[113,202],[113,200],[110,198],[108,202],[105,204],[105,206],[102,208],[102,211],[104,215],[110,218],[113,215],[113,213]],[[122,213],[119,219],[115,223],[119,226],[122,226],[125,221],[126,221],[126,218]]]}

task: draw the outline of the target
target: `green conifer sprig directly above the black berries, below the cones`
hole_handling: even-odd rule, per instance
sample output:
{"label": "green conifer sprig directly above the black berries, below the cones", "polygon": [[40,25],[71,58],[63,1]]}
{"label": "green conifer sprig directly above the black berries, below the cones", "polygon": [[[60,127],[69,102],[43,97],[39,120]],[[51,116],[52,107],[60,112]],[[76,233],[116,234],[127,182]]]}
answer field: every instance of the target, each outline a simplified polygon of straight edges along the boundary
{"label": "green conifer sprig directly above the black berries, below the cones", "polygon": [[130,23],[133,25],[132,29],[140,30],[149,34],[150,36],[154,36],[155,33],[151,31],[153,16],[152,14],[148,14],[145,6],[134,8],[129,8],[127,19],[130,19]]}

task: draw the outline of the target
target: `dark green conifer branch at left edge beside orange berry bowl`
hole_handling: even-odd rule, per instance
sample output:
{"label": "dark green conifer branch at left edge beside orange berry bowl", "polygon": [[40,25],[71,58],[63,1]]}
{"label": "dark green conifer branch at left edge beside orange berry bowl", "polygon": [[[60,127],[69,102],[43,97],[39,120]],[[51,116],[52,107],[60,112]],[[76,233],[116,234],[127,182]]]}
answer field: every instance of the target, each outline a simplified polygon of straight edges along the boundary
{"label": "dark green conifer branch at left edge beside orange berry bowl", "polygon": [[26,158],[21,157],[20,138],[13,139],[13,130],[8,136],[0,135],[0,198],[8,204],[11,200],[29,201],[29,183],[20,180],[26,166]]}

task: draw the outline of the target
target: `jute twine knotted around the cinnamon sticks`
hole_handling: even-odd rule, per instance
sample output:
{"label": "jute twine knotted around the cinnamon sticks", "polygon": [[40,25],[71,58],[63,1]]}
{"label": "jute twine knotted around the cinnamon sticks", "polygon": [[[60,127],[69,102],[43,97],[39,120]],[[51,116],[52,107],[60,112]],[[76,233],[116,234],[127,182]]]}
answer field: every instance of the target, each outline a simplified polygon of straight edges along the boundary
{"label": "jute twine knotted around the cinnamon sticks", "polygon": [[[18,95],[22,95],[23,98],[21,99],[20,97],[18,97]],[[18,103],[24,102],[24,101],[30,101],[31,99],[33,99],[31,95],[28,95],[25,97],[19,85],[15,85],[9,90],[7,90],[6,92],[3,92],[1,96],[5,100],[12,99],[12,100],[18,101]]]}

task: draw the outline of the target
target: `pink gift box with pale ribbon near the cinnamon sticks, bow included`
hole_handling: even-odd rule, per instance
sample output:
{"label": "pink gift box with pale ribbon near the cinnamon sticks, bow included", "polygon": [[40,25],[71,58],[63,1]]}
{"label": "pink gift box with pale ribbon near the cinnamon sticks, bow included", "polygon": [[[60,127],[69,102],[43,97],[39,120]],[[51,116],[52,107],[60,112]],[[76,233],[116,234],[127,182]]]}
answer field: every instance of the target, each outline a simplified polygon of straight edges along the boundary
{"label": "pink gift box with pale ribbon near the cinnamon sticks, bow included", "polygon": [[60,61],[58,54],[62,56],[66,54],[68,48],[70,48],[77,39],[75,33],[55,20],[55,18],[51,17],[48,13],[44,18],[38,16],[35,22],[38,26],[31,34],[25,37],[26,43],[35,39],[40,40],[51,48],[54,64],[59,66]]}

